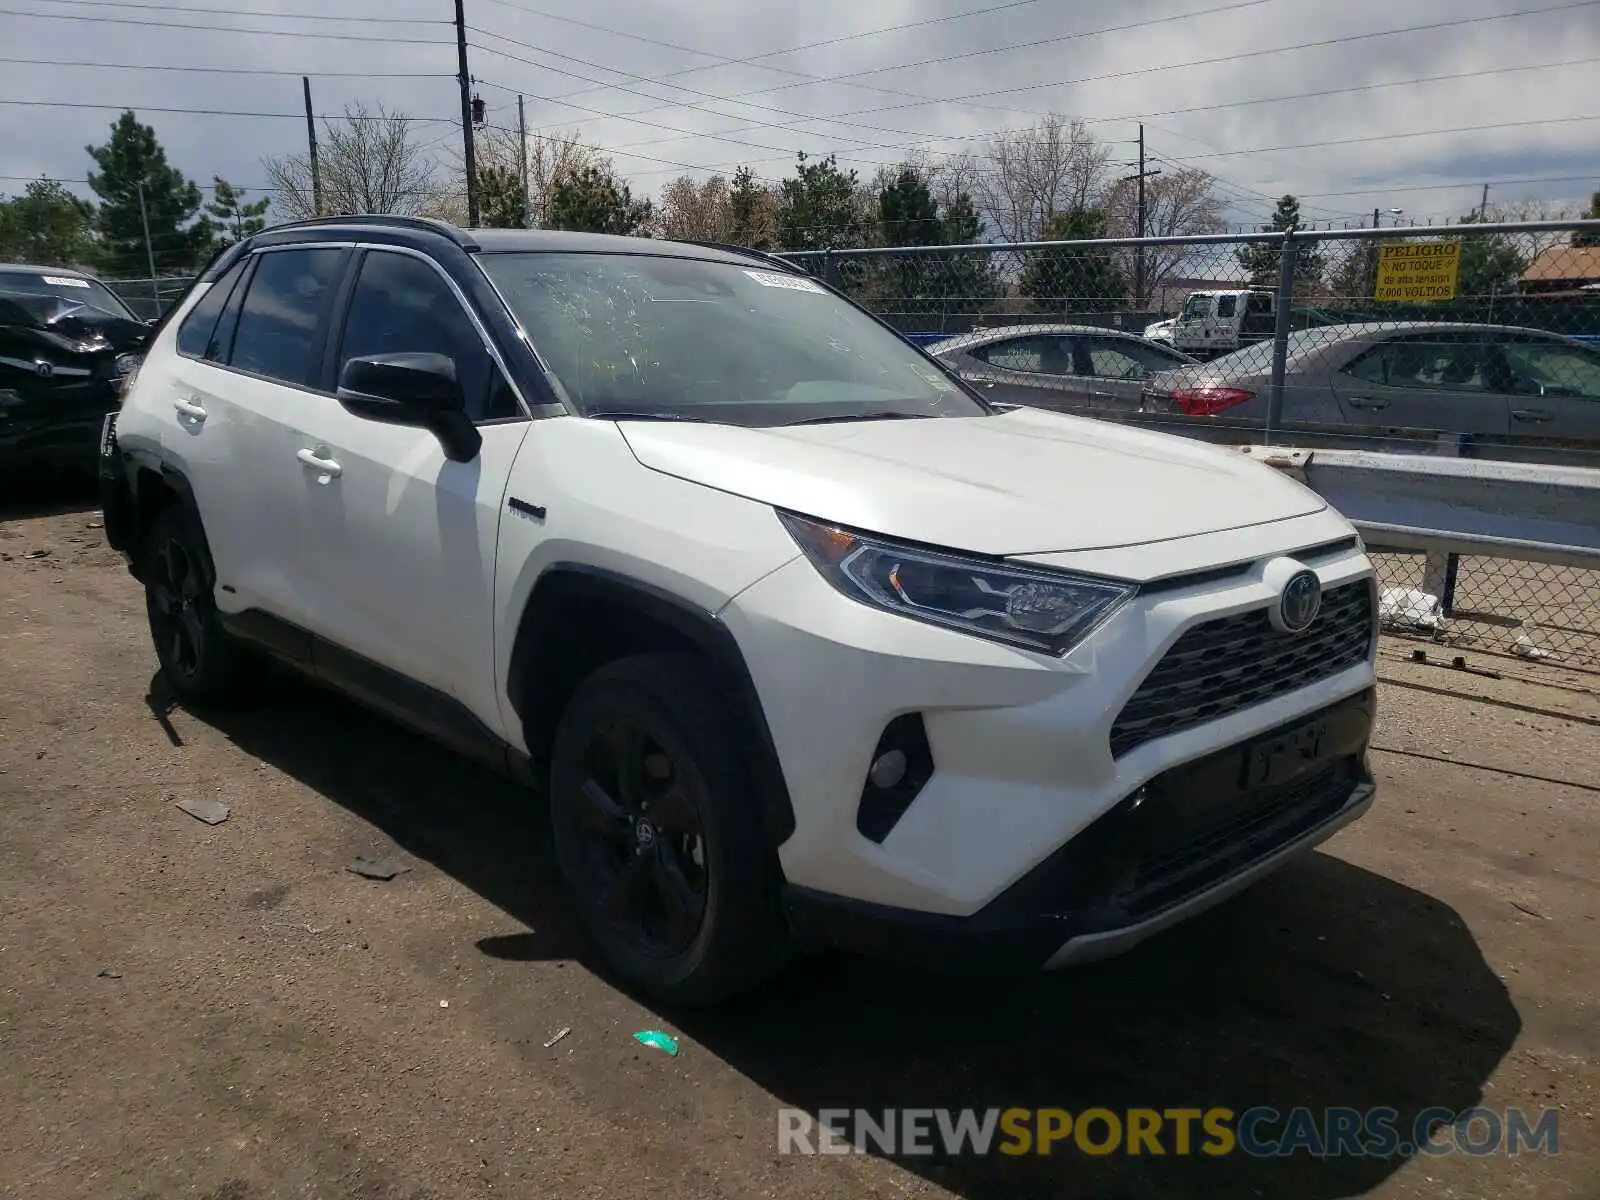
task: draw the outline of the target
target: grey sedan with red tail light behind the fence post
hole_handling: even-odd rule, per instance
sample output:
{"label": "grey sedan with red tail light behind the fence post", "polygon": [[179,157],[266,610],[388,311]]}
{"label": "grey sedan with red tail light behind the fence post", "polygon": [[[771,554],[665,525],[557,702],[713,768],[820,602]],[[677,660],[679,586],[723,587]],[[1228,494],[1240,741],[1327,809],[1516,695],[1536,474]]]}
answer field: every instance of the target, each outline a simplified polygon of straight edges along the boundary
{"label": "grey sedan with red tail light behind the fence post", "polygon": [[[1147,411],[1264,419],[1272,342],[1144,386]],[[1509,325],[1397,322],[1291,333],[1283,419],[1600,438],[1600,349]]]}

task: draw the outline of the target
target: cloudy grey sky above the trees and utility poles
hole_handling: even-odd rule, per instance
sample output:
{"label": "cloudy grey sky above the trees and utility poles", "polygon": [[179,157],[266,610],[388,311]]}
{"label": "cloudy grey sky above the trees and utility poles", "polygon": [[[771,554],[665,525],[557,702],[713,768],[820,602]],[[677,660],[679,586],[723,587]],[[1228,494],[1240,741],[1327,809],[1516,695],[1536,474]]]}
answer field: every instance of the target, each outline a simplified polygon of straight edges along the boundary
{"label": "cloudy grey sky above the trees and utility poles", "polygon": [[[1123,160],[1142,120],[1155,165],[1211,171],[1234,222],[1283,192],[1344,222],[1374,206],[1459,216],[1485,181],[1491,202],[1578,203],[1600,187],[1600,0],[466,0],[466,13],[490,123],[515,126],[522,93],[531,130],[606,147],[646,194],[685,170],[779,178],[795,150],[869,176],[1048,112],[1090,122]],[[0,0],[0,192],[83,179],[83,146],[123,107],[194,179],[259,186],[264,155],[304,149],[302,74],[318,114],[382,102],[424,122],[443,155],[459,146],[451,18],[450,0]]]}

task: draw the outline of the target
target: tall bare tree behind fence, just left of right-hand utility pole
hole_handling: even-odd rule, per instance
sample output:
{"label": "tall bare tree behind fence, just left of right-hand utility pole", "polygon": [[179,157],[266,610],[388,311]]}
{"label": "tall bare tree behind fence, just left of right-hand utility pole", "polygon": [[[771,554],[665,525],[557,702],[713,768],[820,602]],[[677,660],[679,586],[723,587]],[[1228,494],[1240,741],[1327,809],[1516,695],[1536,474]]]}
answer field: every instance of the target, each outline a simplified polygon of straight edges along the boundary
{"label": "tall bare tree behind fence, just left of right-hand utility pole", "polygon": [[1083,122],[1050,115],[1030,130],[1010,130],[984,147],[974,200],[1006,242],[1032,242],[1053,213],[1090,208],[1106,190],[1110,150]]}

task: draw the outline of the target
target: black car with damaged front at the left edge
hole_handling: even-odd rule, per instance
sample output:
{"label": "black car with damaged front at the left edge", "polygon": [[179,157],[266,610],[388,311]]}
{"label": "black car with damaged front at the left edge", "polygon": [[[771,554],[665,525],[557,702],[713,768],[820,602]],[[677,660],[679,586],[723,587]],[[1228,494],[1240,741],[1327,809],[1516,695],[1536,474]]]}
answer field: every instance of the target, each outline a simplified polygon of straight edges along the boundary
{"label": "black car with damaged front at the left edge", "polygon": [[0,472],[91,475],[101,424],[149,333],[93,275],[0,266]]}

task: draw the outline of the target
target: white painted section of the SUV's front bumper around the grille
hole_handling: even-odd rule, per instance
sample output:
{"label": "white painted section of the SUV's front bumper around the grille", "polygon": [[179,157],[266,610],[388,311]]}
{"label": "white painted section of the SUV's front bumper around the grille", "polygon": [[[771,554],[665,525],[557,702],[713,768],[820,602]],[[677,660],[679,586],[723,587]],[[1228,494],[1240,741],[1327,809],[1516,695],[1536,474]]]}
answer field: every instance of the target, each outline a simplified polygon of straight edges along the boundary
{"label": "white painted section of the SUV's front bumper around the grille", "polygon": [[[856,603],[803,558],[773,571],[720,618],[746,656],[794,806],[794,832],[778,850],[784,878],[810,893],[973,917],[1163,773],[1365,693],[1374,645],[1285,694],[1218,707],[1112,752],[1118,714],[1186,632],[1266,610],[1278,589],[1264,562],[1341,533],[1349,534],[1342,520],[1317,514],[1208,534],[1210,552],[1147,547],[1163,563],[1245,566],[1138,595],[1061,659]],[[1229,557],[1213,557],[1218,546]],[[1133,554],[1101,557],[1120,565]],[[1314,558],[1314,570],[1325,590],[1371,587],[1371,563],[1354,539]],[[912,714],[933,770],[883,832],[861,821],[862,786],[880,738]]]}

